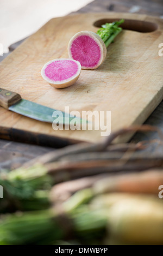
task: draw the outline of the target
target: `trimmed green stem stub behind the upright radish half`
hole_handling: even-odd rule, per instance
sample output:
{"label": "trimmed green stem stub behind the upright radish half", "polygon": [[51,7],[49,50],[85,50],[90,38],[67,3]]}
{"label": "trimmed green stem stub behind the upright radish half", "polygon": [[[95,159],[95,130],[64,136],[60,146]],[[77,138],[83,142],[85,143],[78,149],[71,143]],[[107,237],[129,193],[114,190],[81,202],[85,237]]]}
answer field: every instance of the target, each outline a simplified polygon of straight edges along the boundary
{"label": "trimmed green stem stub behind the upright radish half", "polygon": [[104,41],[106,48],[109,46],[109,44],[114,41],[115,37],[122,31],[120,26],[124,20],[115,21],[112,23],[105,23],[102,25],[102,28],[98,29],[97,34],[101,39]]}

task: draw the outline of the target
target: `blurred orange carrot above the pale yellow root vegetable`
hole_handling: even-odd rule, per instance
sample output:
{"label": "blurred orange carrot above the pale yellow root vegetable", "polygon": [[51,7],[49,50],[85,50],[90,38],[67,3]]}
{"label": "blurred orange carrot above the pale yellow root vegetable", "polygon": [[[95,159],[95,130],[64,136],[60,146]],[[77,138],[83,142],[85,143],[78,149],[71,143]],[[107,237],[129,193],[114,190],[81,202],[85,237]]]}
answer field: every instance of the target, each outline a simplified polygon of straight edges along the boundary
{"label": "blurred orange carrot above the pale yellow root vegetable", "polygon": [[163,170],[153,169],[102,178],[95,182],[93,190],[95,194],[107,192],[158,194],[161,184],[163,184]]}

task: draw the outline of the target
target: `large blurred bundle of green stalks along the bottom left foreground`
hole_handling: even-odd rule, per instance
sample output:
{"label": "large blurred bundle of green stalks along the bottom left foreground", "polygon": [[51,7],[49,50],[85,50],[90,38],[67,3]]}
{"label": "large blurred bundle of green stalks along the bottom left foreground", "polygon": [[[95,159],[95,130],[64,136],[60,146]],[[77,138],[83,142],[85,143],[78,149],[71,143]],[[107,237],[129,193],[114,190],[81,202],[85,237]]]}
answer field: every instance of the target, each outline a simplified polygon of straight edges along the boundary
{"label": "large blurred bundle of green stalks along the bottom left foreground", "polygon": [[56,245],[70,239],[99,243],[105,236],[107,218],[102,209],[90,209],[92,197],[91,189],[83,189],[59,207],[2,215],[0,245]]}

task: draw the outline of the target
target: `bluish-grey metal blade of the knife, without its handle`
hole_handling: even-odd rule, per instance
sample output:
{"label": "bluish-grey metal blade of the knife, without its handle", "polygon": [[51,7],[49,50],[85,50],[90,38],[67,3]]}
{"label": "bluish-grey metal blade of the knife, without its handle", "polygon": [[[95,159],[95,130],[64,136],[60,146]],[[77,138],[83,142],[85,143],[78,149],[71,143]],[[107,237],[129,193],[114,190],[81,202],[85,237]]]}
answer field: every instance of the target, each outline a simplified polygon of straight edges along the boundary
{"label": "bluish-grey metal blade of the knife, without its handle", "polygon": [[[54,121],[55,117],[52,117],[52,115],[54,111],[58,111],[56,109],[48,108],[47,106],[30,102],[29,100],[26,100],[26,99],[21,99],[20,102],[10,106],[9,110],[14,111],[18,114],[21,114],[23,116],[28,116],[35,120],[48,122],[48,123],[55,122]],[[70,124],[70,121],[74,119],[74,116],[69,115],[65,112],[62,112],[62,117],[57,117],[57,122],[63,123],[63,124]],[[81,118],[78,118],[77,120],[78,120],[78,123],[82,123]]]}

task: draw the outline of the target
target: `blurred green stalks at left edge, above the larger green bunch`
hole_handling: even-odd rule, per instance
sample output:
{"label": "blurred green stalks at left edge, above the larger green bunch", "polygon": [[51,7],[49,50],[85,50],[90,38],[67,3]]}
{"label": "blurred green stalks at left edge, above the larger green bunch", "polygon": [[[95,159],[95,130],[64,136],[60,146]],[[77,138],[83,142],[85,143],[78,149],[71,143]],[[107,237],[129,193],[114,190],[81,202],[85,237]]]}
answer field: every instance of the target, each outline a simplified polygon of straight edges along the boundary
{"label": "blurred green stalks at left edge, above the larger green bunch", "polygon": [[4,191],[0,212],[41,210],[49,207],[48,195],[53,178],[47,174],[43,165],[1,172],[0,184]]}

